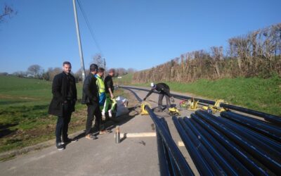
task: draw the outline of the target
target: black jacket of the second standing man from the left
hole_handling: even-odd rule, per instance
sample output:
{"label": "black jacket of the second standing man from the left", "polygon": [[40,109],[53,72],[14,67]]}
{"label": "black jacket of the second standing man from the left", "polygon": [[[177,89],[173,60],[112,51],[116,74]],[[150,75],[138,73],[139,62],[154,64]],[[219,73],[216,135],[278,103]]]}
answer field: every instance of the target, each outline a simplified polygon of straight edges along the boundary
{"label": "black jacket of the second standing man from the left", "polygon": [[96,85],[96,77],[92,73],[89,73],[84,80],[81,103],[98,103],[98,87]]}

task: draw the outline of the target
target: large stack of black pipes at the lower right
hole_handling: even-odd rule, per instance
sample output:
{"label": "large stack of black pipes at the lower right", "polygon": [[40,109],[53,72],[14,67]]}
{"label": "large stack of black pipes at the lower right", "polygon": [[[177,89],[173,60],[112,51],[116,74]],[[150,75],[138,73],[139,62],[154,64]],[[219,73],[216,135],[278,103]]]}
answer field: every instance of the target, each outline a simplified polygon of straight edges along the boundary
{"label": "large stack of black pipes at the lower right", "polygon": [[233,112],[173,117],[200,175],[280,175],[281,130]]}

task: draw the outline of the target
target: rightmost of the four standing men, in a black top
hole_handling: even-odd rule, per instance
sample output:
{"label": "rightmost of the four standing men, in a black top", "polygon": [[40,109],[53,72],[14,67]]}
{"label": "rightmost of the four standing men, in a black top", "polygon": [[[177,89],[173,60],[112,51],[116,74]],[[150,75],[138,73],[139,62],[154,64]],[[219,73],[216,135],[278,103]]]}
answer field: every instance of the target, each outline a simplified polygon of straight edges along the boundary
{"label": "rightmost of the four standing men, in a black top", "polygon": [[[110,116],[110,118],[112,117],[112,111],[115,108],[116,105],[116,101],[114,100],[114,86],[113,86],[113,81],[112,81],[112,77],[115,75],[115,69],[110,69],[109,73],[107,75],[107,77],[105,77],[105,96],[106,96],[106,100],[105,100],[105,112],[108,112],[108,115]],[[113,103],[111,103],[111,101],[114,101]],[[111,105],[111,108],[109,108],[109,106]]]}

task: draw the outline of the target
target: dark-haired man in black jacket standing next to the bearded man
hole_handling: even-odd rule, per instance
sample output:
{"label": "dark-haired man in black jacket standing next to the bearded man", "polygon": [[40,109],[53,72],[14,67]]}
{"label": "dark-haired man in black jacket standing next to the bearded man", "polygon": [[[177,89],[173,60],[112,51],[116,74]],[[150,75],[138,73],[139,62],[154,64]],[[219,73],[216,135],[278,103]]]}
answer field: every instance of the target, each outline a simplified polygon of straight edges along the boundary
{"label": "dark-haired man in black jacket standing next to the bearded man", "polygon": [[95,119],[95,127],[99,131],[100,130],[100,120],[101,113],[100,107],[98,106],[98,87],[96,85],[96,73],[98,72],[98,65],[91,64],[90,65],[90,73],[84,80],[83,84],[83,92],[82,92],[82,104],[87,105],[87,120],[86,120],[86,139],[97,139],[97,137],[93,134],[90,134],[93,115],[96,116]]}

